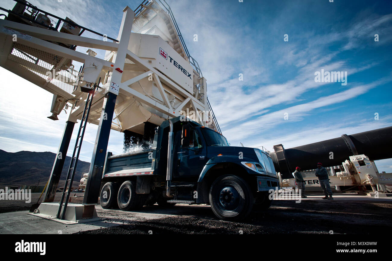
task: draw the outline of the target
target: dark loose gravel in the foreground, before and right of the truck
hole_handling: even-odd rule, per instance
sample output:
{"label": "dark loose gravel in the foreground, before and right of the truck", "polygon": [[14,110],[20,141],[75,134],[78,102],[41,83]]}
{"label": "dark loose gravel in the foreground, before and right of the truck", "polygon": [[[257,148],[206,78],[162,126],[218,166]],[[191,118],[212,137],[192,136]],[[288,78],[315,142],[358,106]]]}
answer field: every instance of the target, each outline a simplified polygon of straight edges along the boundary
{"label": "dark loose gravel in the foreground, before and right of the truck", "polygon": [[[302,201],[300,204],[293,201],[274,201],[269,210],[254,213],[245,222],[219,220],[209,207],[196,210],[192,208],[194,207],[174,206],[172,214],[180,211],[185,215],[133,221],[130,224],[76,234],[380,234],[392,232],[392,224],[389,221],[392,203],[388,201],[317,199]],[[160,208],[150,206],[144,207],[144,210],[159,212]],[[190,215],[186,215],[187,213]]]}

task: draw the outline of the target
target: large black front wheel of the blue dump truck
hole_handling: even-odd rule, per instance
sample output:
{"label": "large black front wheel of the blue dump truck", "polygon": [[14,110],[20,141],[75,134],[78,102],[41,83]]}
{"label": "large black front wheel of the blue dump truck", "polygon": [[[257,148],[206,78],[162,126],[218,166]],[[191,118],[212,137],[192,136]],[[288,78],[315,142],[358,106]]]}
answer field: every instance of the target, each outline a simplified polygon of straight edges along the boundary
{"label": "large black front wheel of the blue dump truck", "polygon": [[209,193],[212,212],[224,220],[245,219],[252,212],[253,194],[241,177],[223,175],[211,185]]}

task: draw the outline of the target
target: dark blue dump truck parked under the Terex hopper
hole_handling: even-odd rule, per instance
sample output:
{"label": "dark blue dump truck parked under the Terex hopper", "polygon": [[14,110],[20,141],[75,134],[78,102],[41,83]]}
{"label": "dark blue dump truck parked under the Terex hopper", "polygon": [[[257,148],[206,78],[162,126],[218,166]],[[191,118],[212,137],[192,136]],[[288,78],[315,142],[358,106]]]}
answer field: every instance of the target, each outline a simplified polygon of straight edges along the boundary
{"label": "dark blue dump truck parked under the Terex hopper", "polygon": [[100,204],[120,210],[210,204],[220,219],[240,220],[269,208],[269,190],[278,186],[266,152],[232,147],[220,133],[176,117],[155,129],[151,149],[107,153]]}

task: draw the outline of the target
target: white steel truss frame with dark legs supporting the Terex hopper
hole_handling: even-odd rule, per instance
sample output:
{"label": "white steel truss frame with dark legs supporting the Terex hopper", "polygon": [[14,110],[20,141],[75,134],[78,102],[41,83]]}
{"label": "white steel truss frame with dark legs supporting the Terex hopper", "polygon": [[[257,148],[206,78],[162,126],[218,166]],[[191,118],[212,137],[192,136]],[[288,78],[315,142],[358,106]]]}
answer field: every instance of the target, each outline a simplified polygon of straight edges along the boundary
{"label": "white steel truss frame with dark legs supporting the Terex hopper", "polygon": [[[198,108],[207,108],[205,104],[202,104],[200,101],[198,101],[195,97],[193,97],[190,93],[182,89],[180,86],[172,82],[169,78],[167,78],[165,75],[160,73],[160,71],[156,70],[153,68],[150,64],[147,64],[144,60],[142,60],[140,57],[132,53],[127,49],[128,44],[129,44],[129,39],[131,37],[131,28],[132,28],[132,22],[134,18],[134,13],[131,11],[131,9],[127,6],[123,10],[123,21],[120,27],[119,31],[119,37],[118,40],[120,40],[119,43],[112,43],[112,42],[105,42],[105,41],[100,41],[92,38],[87,38],[87,37],[81,37],[81,36],[73,36],[65,33],[60,33],[60,32],[54,32],[54,31],[49,31],[47,29],[42,29],[38,27],[33,27],[33,26],[27,26],[23,25],[20,23],[16,22],[11,22],[7,20],[0,20],[0,30],[3,28],[3,26],[7,26],[10,28],[15,29],[15,31],[20,31],[27,33],[28,35],[31,35],[32,37],[29,40],[25,40],[23,38],[18,38],[18,42],[20,44],[24,44],[26,46],[30,46],[36,49],[40,49],[42,51],[47,51],[49,53],[56,53],[57,55],[61,55],[64,58],[71,59],[71,60],[76,60],[78,62],[84,63],[85,60],[88,59],[93,59],[98,63],[103,64],[103,70],[105,71],[113,71],[113,75],[111,78],[111,81],[113,82],[121,82],[121,73],[113,70],[113,68],[123,68],[124,63],[125,63],[125,58],[130,58],[136,65],[141,66],[142,68],[147,71],[146,73],[143,73],[144,75],[149,75],[149,73],[152,73],[154,81],[156,82],[158,89],[164,99],[165,105],[159,104],[155,100],[143,95],[142,93],[139,93],[138,91],[130,88],[128,85],[131,85],[131,80],[128,80],[124,83],[120,83],[120,93],[123,93],[127,95],[128,97],[133,97],[135,100],[138,100],[139,102],[142,102],[148,106],[151,106],[152,108],[167,114],[170,117],[177,117],[180,115],[180,111],[183,108],[183,106],[187,105],[189,101],[192,103],[192,107],[195,109]],[[128,14],[128,17],[127,17]],[[2,32],[0,32],[1,34]],[[11,37],[10,35],[5,35],[7,38],[6,45],[9,48],[12,46],[11,42]],[[109,51],[117,51],[117,53],[114,55],[115,57],[115,62],[108,62],[107,60],[103,60],[100,58],[96,57],[91,57],[89,55],[80,53],[78,51],[74,51],[71,49],[68,49],[66,47],[58,46],[56,44],[53,44],[51,42],[48,42],[47,40],[52,40],[52,41],[57,41],[57,42],[64,42],[64,43],[75,43],[77,42],[79,46],[84,46],[84,47],[92,47],[92,48],[99,48],[99,49],[105,49]],[[7,48],[6,48],[7,49]],[[9,52],[7,52],[9,53]],[[27,75],[27,73],[24,73],[23,71],[20,71],[16,68],[11,68],[11,66],[6,66],[5,65],[5,60],[7,59],[7,55],[2,54],[1,57],[1,66],[5,67],[6,69],[12,71],[16,75],[22,76],[23,78],[26,78],[30,82],[33,82],[34,84],[46,89],[47,91],[54,93],[54,94],[59,94],[62,97],[65,97],[66,99],[71,99],[75,98],[73,95],[70,95],[68,93],[59,93],[59,90],[56,90],[54,87],[51,86],[50,83],[47,83],[44,79],[41,81],[36,80],[33,77],[30,77]],[[15,63],[16,65],[16,63]],[[142,77],[140,75],[140,77]],[[135,77],[137,78],[137,77]],[[133,79],[136,82],[136,79]],[[132,80],[132,81],[133,81]],[[185,99],[183,102],[181,102],[180,105],[175,106],[176,108],[172,108],[169,100],[167,99],[167,95],[165,93],[165,90],[162,87],[161,82],[165,83],[169,88],[173,89],[174,91],[177,91],[180,95],[183,95]],[[99,96],[97,96],[98,98]],[[101,97],[102,99],[102,97]],[[95,100],[95,99],[94,99]],[[98,128],[98,133],[97,133],[97,139],[96,139],[96,144],[94,146],[94,152],[93,152],[93,158],[92,158],[92,164],[90,167],[89,171],[89,182],[92,182],[94,184],[91,184],[91,188],[87,189],[86,188],[86,197],[85,201],[83,201],[83,204],[85,206],[89,206],[90,204],[95,204],[98,201],[98,195],[99,195],[99,188],[97,189],[96,184],[100,183],[101,177],[102,177],[102,169],[100,167],[103,166],[102,157],[100,157],[100,154],[102,153],[105,155],[106,149],[107,149],[107,142],[109,139],[109,133],[112,126],[112,119],[113,119],[113,111],[114,111],[114,106],[115,106],[115,101],[116,101],[116,95],[113,93],[107,93],[105,96],[105,100],[103,102],[103,109],[102,109],[102,114],[101,114],[101,119],[99,123],[99,128]],[[114,103],[114,104],[113,104]],[[78,104],[80,107],[83,107],[83,102],[80,102]],[[197,110],[197,109],[196,109]],[[54,192],[57,188],[58,185],[58,180],[60,179],[60,175],[62,172],[62,167],[64,166],[64,161],[65,157],[67,154],[67,149],[69,146],[69,142],[71,139],[72,131],[73,131],[73,126],[74,123],[76,122],[76,117],[77,114],[72,113],[73,117],[70,117],[69,120],[66,123],[63,137],[62,137],[62,142],[60,144],[58,154],[56,155],[56,160],[54,161],[53,164],[53,169],[51,172],[50,176],[50,181],[49,181],[49,187],[47,189],[47,192],[45,193],[44,201],[45,202],[51,202],[54,199]],[[110,119],[110,120],[103,120],[104,118]],[[105,124],[103,124],[105,122]],[[107,122],[110,122],[108,124]],[[95,123],[95,122],[94,122]],[[117,128],[118,130],[118,128]],[[106,141],[107,140],[107,141]],[[105,152],[101,152],[101,150]],[[62,153],[62,159],[58,158],[59,153]],[[98,167],[99,170],[96,168]],[[93,172],[93,170],[95,170]],[[90,210],[91,212],[91,210]],[[86,212],[87,216],[89,215],[88,211]]]}

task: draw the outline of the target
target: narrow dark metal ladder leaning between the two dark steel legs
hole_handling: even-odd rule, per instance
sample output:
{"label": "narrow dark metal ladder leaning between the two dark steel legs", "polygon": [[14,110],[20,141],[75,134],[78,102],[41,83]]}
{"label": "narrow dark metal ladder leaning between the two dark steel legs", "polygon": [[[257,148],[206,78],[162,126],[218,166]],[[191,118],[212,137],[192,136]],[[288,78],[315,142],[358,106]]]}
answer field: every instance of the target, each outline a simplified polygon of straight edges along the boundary
{"label": "narrow dark metal ladder leaning between the two dark steel legs", "polygon": [[[71,162],[70,162],[69,168],[68,168],[67,179],[65,180],[65,184],[64,184],[64,191],[61,196],[60,205],[58,206],[57,218],[60,218],[61,209],[62,209],[63,202],[64,202],[64,197],[65,197],[65,194],[67,194],[67,197],[65,198],[63,214],[61,215],[61,219],[63,219],[63,220],[65,219],[65,212],[67,210],[67,205],[68,205],[68,200],[69,200],[69,192],[72,188],[72,183],[73,183],[73,179],[74,179],[75,172],[76,172],[76,166],[77,166],[78,160],[79,160],[80,148],[82,147],[84,131],[86,130],[87,120],[89,119],[89,113],[90,113],[91,104],[93,102],[95,89],[96,89],[96,86],[94,86],[94,88],[87,95],[87,100],[86,100],[84,110],[83,110],[83,116],[82,116],[82,119],[80,120],[78,137],[76,137],[74,151],[73,151]],[[75,154],[76,154],[76,156],[75,156]],[[68,183],[69,183],[69,187],[68,187]],[[67,187],[68,187],[68,189],[67,189]]]}

